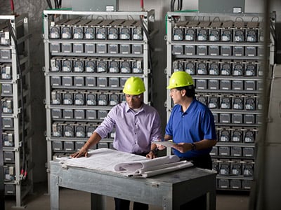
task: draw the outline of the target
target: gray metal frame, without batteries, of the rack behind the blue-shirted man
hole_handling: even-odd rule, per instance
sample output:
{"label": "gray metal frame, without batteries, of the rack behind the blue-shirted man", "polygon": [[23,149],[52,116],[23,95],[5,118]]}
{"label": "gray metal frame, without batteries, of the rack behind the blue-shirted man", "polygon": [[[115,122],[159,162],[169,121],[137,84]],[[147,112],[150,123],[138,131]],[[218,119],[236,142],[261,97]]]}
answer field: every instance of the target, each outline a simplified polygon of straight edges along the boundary
{"label": "gray metal frame, without batteries, of the rack behind the blue-shirted man", "polygon": [[[174,57],[176,58],[179,58],[179,59],[182,59],[182,58],[189,58],[189,59],[236,59],[236,60],[248,60],[248,61],[254,61],[254,60],[259,60],[259,61],[262,61],[263,60],[263,57],[262,56],[252,56],[252,57],[249,57],[249,56],[209,56],[209,55],[203,55],[203,56],[200,56],[200,55],[172,55],[172,47],[173,45],[219,45],[219,46],[255,46],[255,47],[263,47],[264,46],[264,43],[263,42],[255,42],[255,43],[234,43],[234,42],[216,42],[216,41],[174,41],[173,38],[172,38],[172,33],[173,33],[173,27],[174,27],[174,19],[173,17],[176,16],[176,17],[180,17],[181,19],[180,20],[196,20],[196,21],[203,21],[204,22],[204,18],[205,18],[205,21],[208,20],[208,17],[210,18],[219,18],[219,20],[237,20],[237,17],[241,17],[241,18],[244,18],[244,21],[251,21],[253,20],[253,18],[256,18],[258,19],[258,22],[262,22],[263,18],[264,18],[264,15],[262,13],[237,13],[237,14],[229,14],[229,13],[183,13],[183,12],[176,12],[176,13],[173,13],[173,12],[169,12],[167,13],[167,25],[166,25],[166,28],[167,28],[167,36],[166,36],[166,48],[167,48],[167,54],[166,54],[166,57],[167,57],[167,64],[166,64],[166,81],[167,81],[167,84],[169,83],[169,78],[171,77],[171,73],[172,73],[172,69],[173,69],[173,59]],[[185,19],[187,18],[187,19]],[[188,19],[189,18],[189,19]],[[270,21],[273,22],[273,27],[274,26],[274,23],[275,23],[275,13],[271,13],[270,14]],[[238,19],[239,20],[239,19]],[[254,21],[254,20],[253,20]],[[269,45],[269,48],[270,48],[270,53],[269,53],[269,64],[271,65],[270,68],[272,68],[272,65],[274,64],[274,48],[275,48],[275,45],[274,45],[274,41],[273,41],[273,36],[272,34],[270,34],[270,40],[271,40],[271,43]],[[264,67],[264,66],[263,66]],[[193,79],[208,79],[209,78],[209,75],[194,75],[192,76]],[[252,76],[239,76],[239,78],[235,78],[235,77],[231,77],[229,76],[228,78],[225,76],[212,76],[211,77],[212,79],[216,79],[216,80],[221,80],[221,79],[227,79],[227,80],[236,80],[236,79],[239,79],[239,80],[254,80],[254,81],[261,81],[262,80],[262,77],[259,77],[259,76],[255,76],[255,77],[252,77]],[[264,87],[265,88],[265,87]],[[210,92],[212,92],[212,90],[197,90],[197,92],[203,92],[203,93],[206,93],[206,94],[209,94]],[[233,91],[226,91],[226,92],[223,92],[220,90],[216,90],[216,91],[213,91],[214,93],[216,94],[233,94]],[[261,94],[261,91],[259,90],[256,90],[256,91],[250,91],[250,92],[247,92],[247,91],[242,91],[242,92],[237,92],[237,94]],[[167,111],[167,120],[169,120],[169,117],[171,115],[171,110],[172,110],[172,101],[171,101],[171,97],[169,96],[169,90],[167,90],[166,92],[166,111]],[[215,109],[213,110],[214,113],[233,113],[233,110],[228,110],[228,109],[225,109],[225,110],[221,110],[221,109]],[[236,113],[236,112],[235,112]],[[261,114],[261,111],[259,110],[254,110],[254,111],[237,111],[237,113],[240,113],[240,114],[247,114],[247,113],[251,113],[253,115],[258,115],[258,114]],[[226,125],[222,125],[222,126],[233,126],[232,124],[226,124]],[[237,125],[236,125],[237,126]],[[244,126],[249,126],[249,125],[244,125]],[[259,125],[253,125],[254,127],[256,127],[256,129],[259,127]],[[257,138],[256,138],[257,139]],[[228,142],[228,143],[225,143],[225,142],[218,142],[217,146],[240,146],[241,148],[244,148],[244,147],[251,147],[251,148],[254,148],[254,144],[244,144],[244,143],[234,143],[234,142]],[[171,150],[168,150],[167,151],[168,154],[171,153]],[[232,158],[231,156],[221,156],[221,157],[218,157],[218,158],[223,158],[223,159],[227,159],[227,158]],[[240,159],[245,159],[243,157],[240,157]],[[254,157],[251,158],[254,162]],[[217,178],[222,178],[222,179],[244,179],[244,180],[251,180],[252,179],[252,176],[251,177],[235,177],[235,176],[220,176],[218,175]]]}

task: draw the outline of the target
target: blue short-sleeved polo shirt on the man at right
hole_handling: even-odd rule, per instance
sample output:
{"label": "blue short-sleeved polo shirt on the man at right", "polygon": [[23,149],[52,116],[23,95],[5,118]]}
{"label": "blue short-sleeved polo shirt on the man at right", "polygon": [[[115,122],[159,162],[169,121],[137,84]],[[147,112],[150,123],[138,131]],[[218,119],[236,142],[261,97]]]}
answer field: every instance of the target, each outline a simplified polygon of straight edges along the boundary
{"label": "blue short-sleeved polo shirt on the man at right", "polygon": [[[184,113],[181,105],[173,107],[165,134],[173,137],[175,143],[194,143],[203,139],[216,139],[214,116],[207,106],[193,99],[188,110]],[[192,158],[210,153],[211,148],[200,151],[180,153],[173,149],[180,158]]]}

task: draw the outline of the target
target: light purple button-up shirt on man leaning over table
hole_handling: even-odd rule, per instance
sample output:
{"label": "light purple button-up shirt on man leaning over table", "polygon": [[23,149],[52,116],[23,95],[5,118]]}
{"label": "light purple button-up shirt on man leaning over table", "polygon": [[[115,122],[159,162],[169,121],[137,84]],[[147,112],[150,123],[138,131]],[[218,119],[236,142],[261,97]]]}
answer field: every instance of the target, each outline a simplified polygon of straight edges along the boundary
{"label": "light purple button-up shirt on man leaning over table", "polygon": [[114,148],[127,153],[148,153],[151,141],[162,138],[159,113],[147,104],[138,112],[131,110],[127,103],[114,106],[95,132],[105,138],[113,128]]}

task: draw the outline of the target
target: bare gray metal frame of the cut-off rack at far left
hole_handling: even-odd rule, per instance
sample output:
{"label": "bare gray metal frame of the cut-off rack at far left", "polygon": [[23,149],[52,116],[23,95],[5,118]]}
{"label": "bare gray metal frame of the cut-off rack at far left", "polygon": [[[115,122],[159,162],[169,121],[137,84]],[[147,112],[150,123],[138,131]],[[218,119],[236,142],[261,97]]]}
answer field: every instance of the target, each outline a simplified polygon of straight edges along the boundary
{"label": "bare gray metal frame of the cut-off rack at far left", "polygon": [[33,190],[33,175],[32,175],[32,130],[31,130],[31,108],[30,108],[30,87],[23,92],[25,97],[27,97],[27,102],[25,102],[25,113],[26,113],[26,120],[27,123],[25,125],[25,130],[27,131],[27,136],[25,136],[25,141],[27,142],[27,148],[29,150],[28,155],[28,162],[30,164],[28,168],[28,175],[27,179],[29,181],[29,185],[25,188],[22,188],[22,180],[20,178],[20,167],[22,166],[22,157],[20,155],[22,151],[22,140],[20,139],[22,129],[22,122],[20,120],[20,113],[22,113],[22,107],[20,106],[20,75],[18,74],[18,65],[17,65],[17,52],[15,50],[15,44],[25,43],[25,56],[20,57],[20,64],[25,65],[25,71],[23,75],[26,77],[26,82],[30,85],[30,38],[31,34],[29,34],[29,27],[28,27],[28,15],[0,15],[0,20],[6,20],[11,23],[11,27],[14,30],[15,37],[17,37],[17,30],[16,27],[20,24],[23,25],[23,36],[18,38],[17,43],[11,38],[11,45],[9,46],[0,46],[0,49],[6,48],[11,49],[11,60],[1,60],[0,62],[11,62],[12,66],[12,79],[7,80],[0,80],[1,84],[4,83],[11,83],[13,84],[13,114],[3,114],[2,117],[13,118],[13,132],[14,132],[14,146],[11,147],[4,147],[4,151],[13,151],[15,153],[15,181],[13,182],[6,182],[5,184],[15,185],[15,207],[17,208],[25,208],[22,205],[22,199]]}

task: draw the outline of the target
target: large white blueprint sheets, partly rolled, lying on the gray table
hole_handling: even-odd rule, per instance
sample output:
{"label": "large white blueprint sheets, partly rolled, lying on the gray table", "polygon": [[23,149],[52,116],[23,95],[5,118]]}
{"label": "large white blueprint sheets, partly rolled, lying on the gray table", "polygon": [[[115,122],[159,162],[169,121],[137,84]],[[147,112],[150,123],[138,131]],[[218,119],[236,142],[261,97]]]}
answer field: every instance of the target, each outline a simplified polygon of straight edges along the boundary
{"label": "large white blueprint sheets, partly rolled, lying on the gray table", "polygon": [[62,167],[97,169],[103,172],[114,172],[123,176],[142,178],[192,167],[191,162],[180,161],[176,155],[148,159],[140,155],[107,148],[89,151],[88,158],[58,158],[58,160]]}

